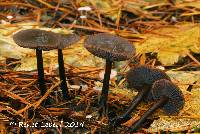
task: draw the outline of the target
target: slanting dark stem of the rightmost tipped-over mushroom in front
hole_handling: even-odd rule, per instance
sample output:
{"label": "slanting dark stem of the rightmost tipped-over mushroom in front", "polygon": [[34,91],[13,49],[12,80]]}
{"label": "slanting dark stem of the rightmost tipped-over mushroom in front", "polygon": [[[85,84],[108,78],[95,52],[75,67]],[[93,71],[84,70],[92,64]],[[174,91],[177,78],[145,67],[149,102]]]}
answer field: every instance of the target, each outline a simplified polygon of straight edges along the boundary
{"label": "slanting dark stem of the rightmost tipped-over mushroom in front", "polygon": [[140,128],[141,124],[149,117],[155,110],[162,107],[168,101],[168,97],[162,96],[162,98],[156,102],[149,110],[147,110],[144,115],[131,127],[131,132],[136,131]]}

